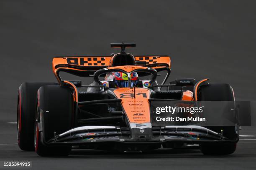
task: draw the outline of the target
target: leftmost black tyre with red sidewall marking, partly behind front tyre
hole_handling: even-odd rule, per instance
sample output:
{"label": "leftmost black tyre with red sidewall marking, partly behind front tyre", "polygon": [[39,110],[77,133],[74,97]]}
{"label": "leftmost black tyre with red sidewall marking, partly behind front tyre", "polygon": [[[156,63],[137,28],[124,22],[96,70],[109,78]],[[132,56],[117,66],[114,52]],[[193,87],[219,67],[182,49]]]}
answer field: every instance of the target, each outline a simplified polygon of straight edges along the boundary
{"label": "leftmost black tyre with red sidewall marking, partly behind front tyre", "polygon": [[18,90],[17,138],[21,150],[34,150],[34,120],[36,93],[43,85],[58,85],[54,82],[24,82]]}

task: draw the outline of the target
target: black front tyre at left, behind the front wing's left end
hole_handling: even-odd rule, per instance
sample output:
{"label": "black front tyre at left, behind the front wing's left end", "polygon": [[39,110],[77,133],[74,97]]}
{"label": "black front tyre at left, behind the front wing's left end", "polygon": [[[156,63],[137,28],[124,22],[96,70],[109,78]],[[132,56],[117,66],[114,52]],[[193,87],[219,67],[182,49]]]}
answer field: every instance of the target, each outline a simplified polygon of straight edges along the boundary
{"label": "black front tyre at left, behind the front wing's left end", "polygon": [[54,132],[58,135],[72,128],[73,105],[72,93],[68,87],[48,85],[38,89],[37,116],[34,128],[34,146],[38,155],[69,155],[71,146],[49,145],[47,142],[54,138]]}

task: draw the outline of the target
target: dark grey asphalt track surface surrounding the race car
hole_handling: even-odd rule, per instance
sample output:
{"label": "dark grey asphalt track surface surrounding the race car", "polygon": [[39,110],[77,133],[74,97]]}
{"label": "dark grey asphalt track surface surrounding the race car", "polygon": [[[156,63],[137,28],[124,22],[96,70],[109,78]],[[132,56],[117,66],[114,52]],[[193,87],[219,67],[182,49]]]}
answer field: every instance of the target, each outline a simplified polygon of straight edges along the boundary
{"label": "dark grey asphalt track surface surrounding the race car", "polygon": [[[56,82],[51,59],[109,55],[110,42],[136,42],[136,55],[170,55],[174,78],[208,77],[232,85],[236,100],[256,100],[255,1],[0,1],[0,161],[32,169],[256,169],[256,127],[242,127],[234,154],[199,150],[110,153],[74,150],[41,158],[16,144],[17,90],[22,82]],[[85,80],[84,84],[90,83]],[[11,168],[9,168],[11,169]],[[30,168],[31,169],[31,168]]]}

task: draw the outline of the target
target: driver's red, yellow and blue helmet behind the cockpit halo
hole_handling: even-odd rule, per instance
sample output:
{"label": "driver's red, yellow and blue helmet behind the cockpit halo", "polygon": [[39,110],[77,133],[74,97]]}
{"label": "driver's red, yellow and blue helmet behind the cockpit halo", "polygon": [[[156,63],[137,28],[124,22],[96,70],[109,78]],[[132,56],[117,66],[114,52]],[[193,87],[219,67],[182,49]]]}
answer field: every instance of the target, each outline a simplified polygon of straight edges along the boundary
{"label": "driver's red, yellow and blue helmet behind the cockpit halo", "polygon": [[[115,72],[113,81],[116,87],[129,87],[128,76],[123,72]],[[136,86],[138,82],[138,74],[137,72],[133,72],[131,74],[131,87]]]}

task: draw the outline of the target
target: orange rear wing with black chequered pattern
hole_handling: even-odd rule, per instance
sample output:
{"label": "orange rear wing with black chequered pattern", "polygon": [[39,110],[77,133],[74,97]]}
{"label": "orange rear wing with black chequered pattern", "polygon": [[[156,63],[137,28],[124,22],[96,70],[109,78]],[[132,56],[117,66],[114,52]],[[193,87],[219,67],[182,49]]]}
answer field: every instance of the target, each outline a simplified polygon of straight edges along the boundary
{"label": "orange rear wing with black chequered pattern", "polygon": [[[52,68],[60,82],[59,72],[68,72],[81,77],[90,77],[95,71],[109,67],[112,56],[54,57]],[[171,58],[167,55],[134,56],[136,65],[170,72]]]}

